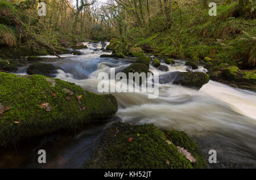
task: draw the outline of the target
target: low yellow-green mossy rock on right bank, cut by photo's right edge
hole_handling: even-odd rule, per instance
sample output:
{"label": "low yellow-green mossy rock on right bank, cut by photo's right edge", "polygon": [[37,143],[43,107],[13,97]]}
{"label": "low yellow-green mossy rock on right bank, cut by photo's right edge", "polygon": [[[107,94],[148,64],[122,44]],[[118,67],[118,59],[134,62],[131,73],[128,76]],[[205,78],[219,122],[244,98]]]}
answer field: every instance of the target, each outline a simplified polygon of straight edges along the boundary
{"label": "low yellow-green mossy rock on right bank, cut by photo's right edge", "polygon": [[256,70],[240,70],[237,66],[230,66],[222,70],[226,80],[256,84]]}

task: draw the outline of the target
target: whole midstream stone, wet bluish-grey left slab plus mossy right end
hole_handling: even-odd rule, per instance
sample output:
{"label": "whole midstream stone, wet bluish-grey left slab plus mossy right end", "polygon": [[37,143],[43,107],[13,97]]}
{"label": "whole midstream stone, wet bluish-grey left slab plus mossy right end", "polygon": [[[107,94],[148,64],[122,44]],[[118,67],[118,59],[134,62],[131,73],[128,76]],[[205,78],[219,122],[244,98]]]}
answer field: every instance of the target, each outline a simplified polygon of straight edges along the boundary
{"label": "whole midstream stone, wet bluish-grey left slab plus mossy right end", "polygon": [[209,82],[209,75],[204,72],[169,72],[159,76],[159,83],[174,83],[200,89]]}

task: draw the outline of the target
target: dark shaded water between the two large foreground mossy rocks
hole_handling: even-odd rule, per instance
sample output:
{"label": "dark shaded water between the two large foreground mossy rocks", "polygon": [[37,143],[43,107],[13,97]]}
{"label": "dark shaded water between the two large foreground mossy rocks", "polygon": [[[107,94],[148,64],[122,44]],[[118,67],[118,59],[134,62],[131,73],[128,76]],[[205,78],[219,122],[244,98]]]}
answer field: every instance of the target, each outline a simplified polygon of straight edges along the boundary
{"label": "dark shaded water between the two large foreground mossy rocks", "polygon": [[[83,168],[93,149],[118,117],[98,120],[81,130],[58,131],[0,147],[0,168]],[[46,151],[46,164],[38,163],[38,151]]]}

